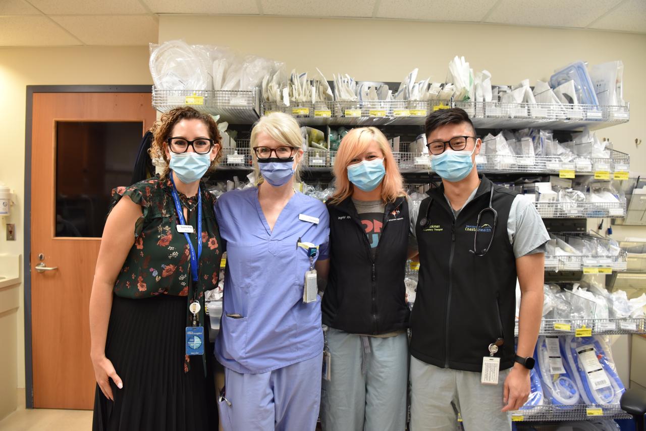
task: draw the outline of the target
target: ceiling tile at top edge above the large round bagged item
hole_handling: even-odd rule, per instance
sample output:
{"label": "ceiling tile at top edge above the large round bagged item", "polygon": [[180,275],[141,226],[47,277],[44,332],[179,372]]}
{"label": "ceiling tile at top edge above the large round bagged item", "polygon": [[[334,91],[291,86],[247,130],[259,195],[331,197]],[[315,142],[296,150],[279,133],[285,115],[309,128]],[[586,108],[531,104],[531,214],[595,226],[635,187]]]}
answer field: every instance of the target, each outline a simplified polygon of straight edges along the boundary
{"label": "ceiling tile at top edge above the large round bagged item", "polygon": [[143,0],[154,14],[258,15],[256,0]]}

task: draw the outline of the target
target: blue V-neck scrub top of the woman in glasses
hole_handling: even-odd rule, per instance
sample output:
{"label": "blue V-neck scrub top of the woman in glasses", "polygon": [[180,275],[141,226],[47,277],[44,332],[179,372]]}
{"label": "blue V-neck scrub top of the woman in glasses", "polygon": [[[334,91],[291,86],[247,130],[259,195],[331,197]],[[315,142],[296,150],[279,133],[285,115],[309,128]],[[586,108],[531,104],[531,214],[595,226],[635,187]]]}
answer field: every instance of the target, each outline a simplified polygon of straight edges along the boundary
{"label": "blue V-neck scrub top of the woman in glasses", "polygon": [[[320,355],[320,297],[303,303],[309,257],[297,242],[319,246],[317,259],[329,258],[326,206],[297,192],[271,231],[253,187],[222,194],[215,212],[227,243],[218,361],[238,373],[265,373]],[[318,218],[318,224],[299,215]],[[227,316],[232,314],[242,318]]]}

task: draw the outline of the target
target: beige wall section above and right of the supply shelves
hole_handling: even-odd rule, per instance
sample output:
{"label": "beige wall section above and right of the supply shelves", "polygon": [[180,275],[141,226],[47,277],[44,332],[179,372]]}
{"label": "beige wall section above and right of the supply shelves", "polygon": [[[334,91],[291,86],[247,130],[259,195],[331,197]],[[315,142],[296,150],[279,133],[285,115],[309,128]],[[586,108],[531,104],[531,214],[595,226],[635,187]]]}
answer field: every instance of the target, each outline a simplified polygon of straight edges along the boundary
{"label": "beige wall section above and right of the supply shelves", "polygon": [[[622,60],[630,122],[598,132],[629,152],[631,170],[646,174],[646,35],[598,30],[423,23],[368,19],[161,16],[160,42],[235,48],[287,63],[288,70],[327,79],[347,73],[357,80],[401,81],[413,68],[418,78],[443,82],[448,63],[464,56],[475,71],[489,70],[492,83],[547,80],[554,69],[582,59],[592,64]],[[637,148],[635,138],[643,139]],[[604,224],[607,226],[607,222]],[[614,236],[646,236],[640,227],[613,227]]]}

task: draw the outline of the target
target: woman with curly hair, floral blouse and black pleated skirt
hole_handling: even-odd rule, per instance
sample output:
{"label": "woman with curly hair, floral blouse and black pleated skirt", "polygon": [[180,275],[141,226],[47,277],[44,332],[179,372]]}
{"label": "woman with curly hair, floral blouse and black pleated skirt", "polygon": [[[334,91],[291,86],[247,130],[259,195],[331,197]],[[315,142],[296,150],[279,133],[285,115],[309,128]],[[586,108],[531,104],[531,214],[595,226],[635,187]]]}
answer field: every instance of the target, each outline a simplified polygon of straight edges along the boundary
{"label": "woman with curly hair, floral blouse and black pleated skirt", "polygon": [[154,129],[163,172],[113,191],[90,296],[94,430],[218,426],[204,291],[217,286],[222,253],[200,180],[220,140],[208,114],[173,109]]}

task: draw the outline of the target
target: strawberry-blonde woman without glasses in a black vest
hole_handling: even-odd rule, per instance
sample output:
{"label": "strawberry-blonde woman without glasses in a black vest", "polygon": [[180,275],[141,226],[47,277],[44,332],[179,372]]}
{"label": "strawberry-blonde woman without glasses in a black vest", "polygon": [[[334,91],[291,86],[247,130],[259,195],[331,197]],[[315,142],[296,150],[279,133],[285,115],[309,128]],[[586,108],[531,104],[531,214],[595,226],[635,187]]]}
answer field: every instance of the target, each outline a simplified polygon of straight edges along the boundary
{"label": "strawberry-blonde woman without glasses in a black vest", "polygon": [[[353,129],[334,163],[330,269],[323,295],[324,431],[406,427],[408,200],[388,141]],[[327,327],[327,328],[326,328]],[[329,360],[328,360],[329,355]]]}

